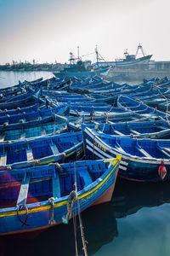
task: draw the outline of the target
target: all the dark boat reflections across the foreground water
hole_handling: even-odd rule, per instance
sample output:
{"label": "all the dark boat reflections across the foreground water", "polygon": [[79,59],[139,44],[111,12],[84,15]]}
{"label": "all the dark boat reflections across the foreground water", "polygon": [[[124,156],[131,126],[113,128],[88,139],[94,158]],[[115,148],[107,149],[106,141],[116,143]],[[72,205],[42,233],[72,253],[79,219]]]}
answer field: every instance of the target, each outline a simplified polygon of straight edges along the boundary
{"label": "all the dark boat reflections across the foreground water", "polygon": [[[116,189],[110,203],[91,207],[82,212],[85,239],[88,241],[88,255],[99,252],[101,247],[113,241],[116,236],[121,239],[121,234],[117,230],[116,218],[134,214],[142,207],[156,207],[168,203],[170,201],[169,192],[169,183],[133,183],[117,179]],[[79,255],[83,255],[78,225],[77,219],[78,251]],[[44,231],[31,241],[18,239],[1,241],[1,253],[5,252],[2,255],[12,255],[12,253],[31,255],[32,250],[35,255],[41,256],[76,255],[73,222],[71,221],[68,225],[60,224]]]}

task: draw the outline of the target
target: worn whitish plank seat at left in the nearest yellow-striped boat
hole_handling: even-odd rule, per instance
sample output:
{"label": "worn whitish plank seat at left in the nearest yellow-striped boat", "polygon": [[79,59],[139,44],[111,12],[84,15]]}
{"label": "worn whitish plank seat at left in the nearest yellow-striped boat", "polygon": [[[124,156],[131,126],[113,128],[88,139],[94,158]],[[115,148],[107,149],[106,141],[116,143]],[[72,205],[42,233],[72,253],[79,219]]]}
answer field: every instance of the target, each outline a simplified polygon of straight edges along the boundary
{"label": "worn whitish plank seat at left in the nearest yellow-striped boat", "polygon": [[30,177],[29,176],[24,177],[20,185],[20,193],[17,200],[17,204],[16,204],[17,206],[26,205],[29,183],[30,183]]}

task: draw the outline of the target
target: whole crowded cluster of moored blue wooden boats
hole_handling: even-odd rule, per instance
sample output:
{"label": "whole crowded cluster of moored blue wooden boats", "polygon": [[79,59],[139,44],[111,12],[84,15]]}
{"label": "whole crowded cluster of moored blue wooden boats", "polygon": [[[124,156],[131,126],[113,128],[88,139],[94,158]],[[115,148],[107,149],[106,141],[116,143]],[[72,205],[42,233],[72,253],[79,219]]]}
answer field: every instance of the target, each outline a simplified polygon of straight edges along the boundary
{"label": "whole crowded cluster of moored blue wooden boats", "polygon": [[170,178],[170,81],[97,75],[0,89],[0,236],[68,223],[111,201],[116,176]]}

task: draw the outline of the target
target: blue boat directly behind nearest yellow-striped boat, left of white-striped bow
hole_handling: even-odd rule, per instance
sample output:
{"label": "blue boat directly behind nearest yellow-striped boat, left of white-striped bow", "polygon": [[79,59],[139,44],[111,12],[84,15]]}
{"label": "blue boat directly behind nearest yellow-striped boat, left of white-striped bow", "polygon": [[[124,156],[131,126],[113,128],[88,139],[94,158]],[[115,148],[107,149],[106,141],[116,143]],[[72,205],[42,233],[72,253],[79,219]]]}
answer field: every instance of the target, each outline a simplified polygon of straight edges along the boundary
{"label": "blue boat directly behind nearest yellow-striped boat, left of white-striped bow", "polygon": [[16,142],[0,143],[0,169],[46,165],[82,159],[82,132],[66,132]]}

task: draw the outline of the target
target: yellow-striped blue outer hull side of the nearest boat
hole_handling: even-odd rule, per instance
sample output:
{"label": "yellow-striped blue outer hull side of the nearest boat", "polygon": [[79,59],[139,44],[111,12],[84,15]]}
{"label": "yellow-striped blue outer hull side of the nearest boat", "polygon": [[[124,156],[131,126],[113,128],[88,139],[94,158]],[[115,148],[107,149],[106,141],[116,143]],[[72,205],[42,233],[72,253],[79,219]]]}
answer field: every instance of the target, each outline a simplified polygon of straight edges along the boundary
{"label": "yellow-striped blue outer hull side of the nearest boat", "polygon": [[[116,174],[121,156],[117,160],[109,161],[108,170],[99,177],[94,183],[89,184],[77,194],[79,207],[77,201],[74,206],[74,214],[82,212],[88,207],[95,204],[111,201],[112,192],[116,183]],[[23,234],[26,232],[45,230],[55,224],[62,222],[63,216],[67,212],[68,196],[54,199],[54,222],[50,224],[51,206],[48,201],[37,202],[26,205],[26,208],[20,209],[20,218],[23,221],[26,219],[26,224],[22,224],[17,216],[17,207],[0,209],[0,236],[10,236],[16,234]],[[78,211],[78,208],[80,209]],[[72,216],[71,216],[72,217]]]}

